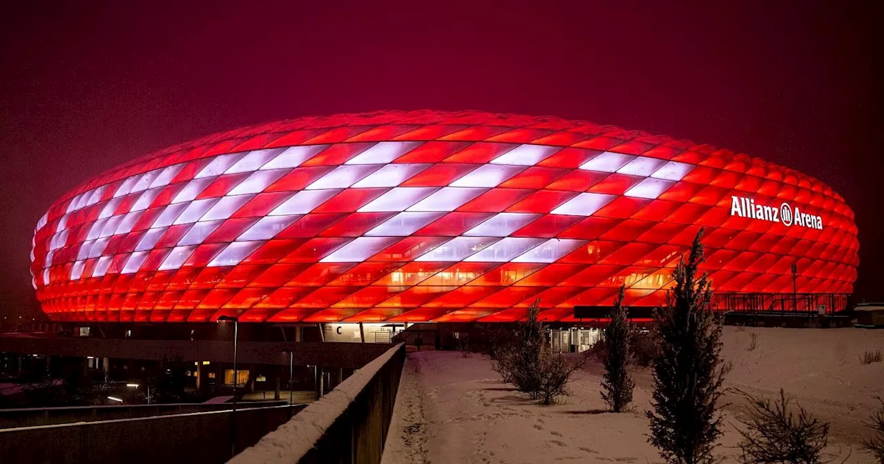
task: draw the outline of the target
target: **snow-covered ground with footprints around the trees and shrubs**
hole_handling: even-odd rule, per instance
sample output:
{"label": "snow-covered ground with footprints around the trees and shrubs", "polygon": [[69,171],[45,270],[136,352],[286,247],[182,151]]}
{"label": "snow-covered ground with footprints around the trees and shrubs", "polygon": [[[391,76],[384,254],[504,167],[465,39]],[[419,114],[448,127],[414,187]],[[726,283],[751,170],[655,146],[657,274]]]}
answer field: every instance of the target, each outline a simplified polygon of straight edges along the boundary
{"label": "snow-covered ground with footprints around the trees and shrubs", "polygon": [[[757,347],[750,351],[751,333]],[[878,405],[874,396],[884,396],[884,364],[863,366],[858,357],[884,347],[884,331],[726,327],[723,342],[733,365],[729,387],[769,394],[784,388],[832,423],[829,458],[841,462],[850,453],[847,462],[873,462],[858,444],[868,433],[862,421]],[[482,355],[409,354],[383,462],[660,462],[646,437],[650,372],[635,373],[635,410],[625,414],[604,411],[601,373],[597,362],[588,363],[575,373],[571,395],[545,407],[500,384]],[[726,400],[734,405],[716,453],[738,462],[739,398]]]}

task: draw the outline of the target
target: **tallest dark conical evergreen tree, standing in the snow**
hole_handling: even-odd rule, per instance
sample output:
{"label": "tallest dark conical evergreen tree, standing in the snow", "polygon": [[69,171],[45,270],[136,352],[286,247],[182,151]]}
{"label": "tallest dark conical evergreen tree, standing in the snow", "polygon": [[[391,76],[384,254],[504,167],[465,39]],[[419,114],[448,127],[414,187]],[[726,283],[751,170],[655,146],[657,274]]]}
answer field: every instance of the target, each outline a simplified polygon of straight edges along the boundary
{"label": "tallest dark conical evergreen tree, standing in the snow", "polygon": [[724,380],[721,320],[709,308],[711,284],[697,278],[703,246],[697,233],[688,262],[673,271],[674,288],[656,314],[659,357],[653,363],[651,436],[660,457],[672,464],[713,462],[721,435],[718,401]]}

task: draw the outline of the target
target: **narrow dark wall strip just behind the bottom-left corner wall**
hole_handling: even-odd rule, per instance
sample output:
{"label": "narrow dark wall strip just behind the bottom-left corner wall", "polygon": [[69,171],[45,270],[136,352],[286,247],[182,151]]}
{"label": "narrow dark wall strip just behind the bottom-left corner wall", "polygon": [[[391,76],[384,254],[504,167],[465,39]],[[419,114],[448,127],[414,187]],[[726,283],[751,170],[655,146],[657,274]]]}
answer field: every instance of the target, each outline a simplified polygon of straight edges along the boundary
{"label": "narrow dark wall strip just behind the bottom-left corner wall", "polygon": [[[261,403],[241,403],[241,408],[283,406],[287,401],[263,401]],[[55,425],[70,422],[112,421],[116,419],[133,419],[152,415],[179,415],[187,413],[205,413],[230,409],[230,403],[172,403],[154,405],[111,405],[111,406],[75,406],[75,407],[21,407],[0,409],[0,429],[15,427],[34,427],[38,425]]]}

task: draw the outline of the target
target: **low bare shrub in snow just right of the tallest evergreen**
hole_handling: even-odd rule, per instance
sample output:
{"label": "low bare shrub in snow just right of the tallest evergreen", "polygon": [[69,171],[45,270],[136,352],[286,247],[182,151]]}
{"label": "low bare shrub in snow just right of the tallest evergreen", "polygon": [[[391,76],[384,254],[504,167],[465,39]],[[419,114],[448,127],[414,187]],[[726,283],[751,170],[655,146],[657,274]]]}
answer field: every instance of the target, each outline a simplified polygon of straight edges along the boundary
{"label": "low bare shrub in snow just right of the tallest evergreen", "polygon": [[795,415],[790,407],[793,399],[780,390],[780,397],[771,400],[743,392],[749,406],[738,417],[746,426],[740,430],[743,439],[740,450],[743,462],[767,464],[788,462],[796,464],[819,463],[820,454],[828,444],[829,424],[819,422],[795,402]]}

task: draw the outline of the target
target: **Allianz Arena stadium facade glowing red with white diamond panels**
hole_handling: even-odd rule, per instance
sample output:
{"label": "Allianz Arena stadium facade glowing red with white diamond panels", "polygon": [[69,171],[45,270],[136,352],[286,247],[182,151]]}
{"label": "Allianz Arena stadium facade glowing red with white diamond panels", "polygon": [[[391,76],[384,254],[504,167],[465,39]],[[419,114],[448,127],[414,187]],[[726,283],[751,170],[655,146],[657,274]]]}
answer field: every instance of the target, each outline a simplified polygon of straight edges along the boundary
{"label": "Allianz Arena stadium facade glowing red with white diamond panels", "polygon": [[31,272],[55,321],[507,322],[539,300],[569,322],[621,285],[630,306],[661,305],[701,227],[716,293],[850,293],[853,219],[819,180],[726,149],[392,111],[250,126],[104,172],[40,219]]}

